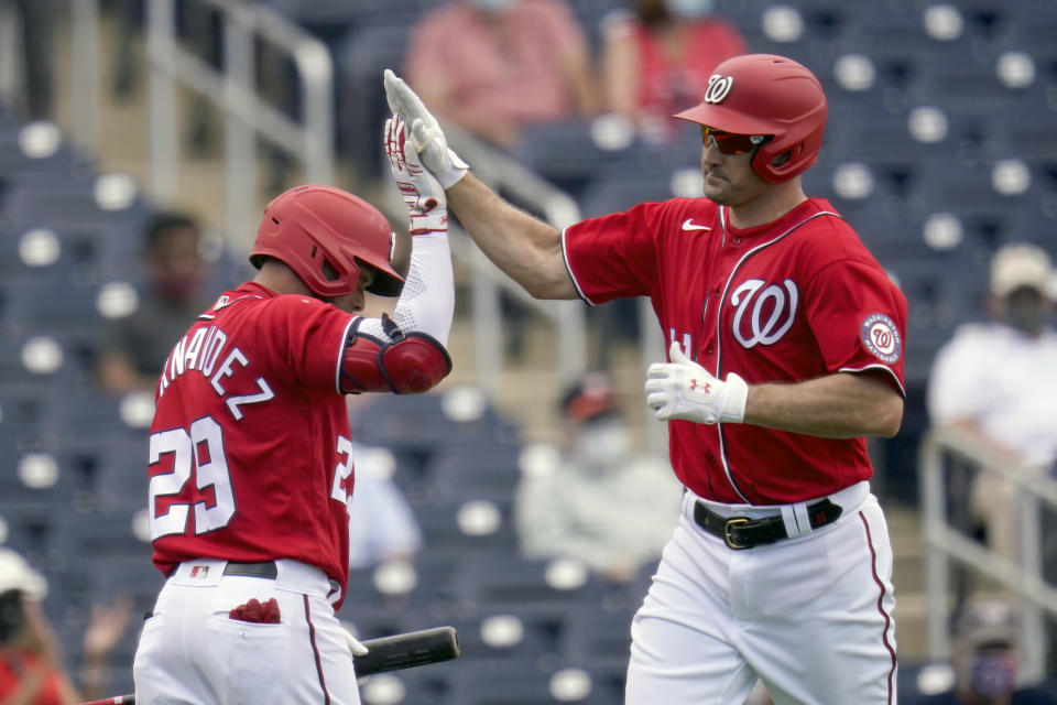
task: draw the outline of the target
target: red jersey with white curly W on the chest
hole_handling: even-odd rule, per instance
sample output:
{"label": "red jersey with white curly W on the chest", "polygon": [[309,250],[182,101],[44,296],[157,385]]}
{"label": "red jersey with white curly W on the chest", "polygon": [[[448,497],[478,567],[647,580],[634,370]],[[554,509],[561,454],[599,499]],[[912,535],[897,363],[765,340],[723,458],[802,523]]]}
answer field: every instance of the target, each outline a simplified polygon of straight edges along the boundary
{"label": "red jersey with white curly W on the chest", "polygon": [[[824,199],[739,230],[708,198],[646,203],[566,228],[590,304],[650,296],[665,337],[718,378],[794,382],[878,370],[903,393],[906,299]],[[865,438],[668,422],[672,466],[698,496],[803,501],[869,479]]]}

